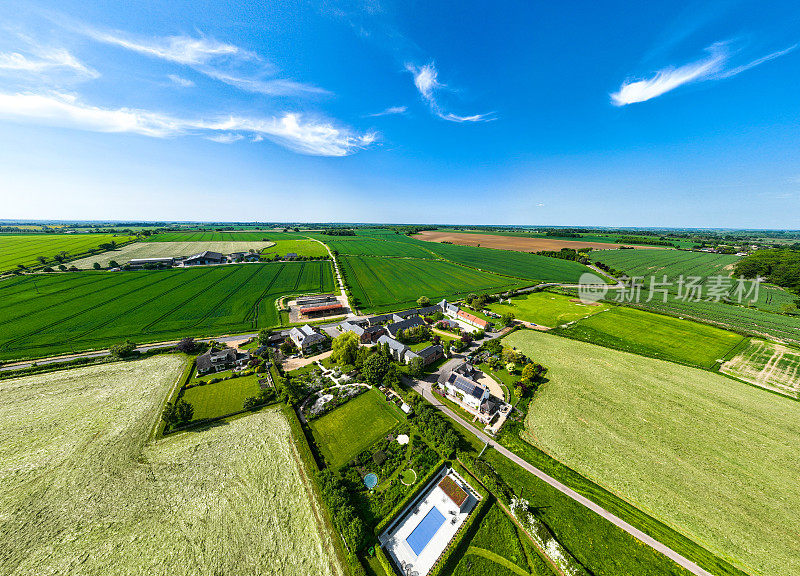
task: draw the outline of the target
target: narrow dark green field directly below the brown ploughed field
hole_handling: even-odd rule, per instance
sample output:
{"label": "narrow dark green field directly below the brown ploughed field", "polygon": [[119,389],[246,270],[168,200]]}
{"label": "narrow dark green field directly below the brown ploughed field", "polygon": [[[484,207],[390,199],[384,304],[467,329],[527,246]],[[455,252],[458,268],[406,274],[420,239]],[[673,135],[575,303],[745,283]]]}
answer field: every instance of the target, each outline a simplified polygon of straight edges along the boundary
{"label": "narrow dark green field directly below the brown ploughed field", "polygon": [[496,272],[535,282],[577,284],[581,274],[588,271],[584,265],[577,262],[536,256],[525,252],[418,242],[445,260],[486,272]]}

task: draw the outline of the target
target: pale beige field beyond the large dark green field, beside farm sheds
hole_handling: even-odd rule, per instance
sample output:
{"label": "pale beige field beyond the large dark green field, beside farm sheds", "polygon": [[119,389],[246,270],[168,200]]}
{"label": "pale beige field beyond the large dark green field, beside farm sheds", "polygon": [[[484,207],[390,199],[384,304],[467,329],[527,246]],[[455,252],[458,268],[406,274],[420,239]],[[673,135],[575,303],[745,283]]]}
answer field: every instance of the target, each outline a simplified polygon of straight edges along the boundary
{"label": "pale beige field beyond the large dark green field, beside farm sheds", "polygon": [[134,242],[117,250],[103,252],[97,256],[81,258],[70,262],[70,266],[88,270],[95,262],[108,267],[111,260],[125,264],[134,258],[170,258],[172,256],[192,256],[204,250],[230,254],[231,252],[261,252],[272,242]]}

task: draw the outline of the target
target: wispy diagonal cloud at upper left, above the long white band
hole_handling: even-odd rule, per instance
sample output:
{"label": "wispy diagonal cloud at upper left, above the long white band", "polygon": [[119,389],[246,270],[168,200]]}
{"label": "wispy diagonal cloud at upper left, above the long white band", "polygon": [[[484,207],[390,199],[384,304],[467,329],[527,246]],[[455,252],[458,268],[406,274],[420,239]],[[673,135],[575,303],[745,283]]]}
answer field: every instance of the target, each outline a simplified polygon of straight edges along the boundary
{"label": "wispy diagonal cloud at upper left, above the long white band", "polygon": [[268,96],[328,94],[327,90],[294,80],[276,78],[278,69],[253,51],[205,36],[167,36],[134,38],[123,32],[90,27],[79,30],[98,42],[188,66],[209,78],[244,90]]}

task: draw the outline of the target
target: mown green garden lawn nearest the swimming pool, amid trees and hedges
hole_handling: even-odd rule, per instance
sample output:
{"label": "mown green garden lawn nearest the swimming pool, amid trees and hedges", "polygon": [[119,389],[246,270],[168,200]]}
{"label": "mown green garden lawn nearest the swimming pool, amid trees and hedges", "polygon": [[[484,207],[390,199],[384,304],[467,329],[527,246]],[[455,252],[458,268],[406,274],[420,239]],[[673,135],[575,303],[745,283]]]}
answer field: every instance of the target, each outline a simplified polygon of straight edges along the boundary
{"label": "mown green garden lawn nearest the swimming pool, amid trees and hedges", "polygon": [[309,426],[328,465],[339,468],[403,421],[399,409],[373,389]]}

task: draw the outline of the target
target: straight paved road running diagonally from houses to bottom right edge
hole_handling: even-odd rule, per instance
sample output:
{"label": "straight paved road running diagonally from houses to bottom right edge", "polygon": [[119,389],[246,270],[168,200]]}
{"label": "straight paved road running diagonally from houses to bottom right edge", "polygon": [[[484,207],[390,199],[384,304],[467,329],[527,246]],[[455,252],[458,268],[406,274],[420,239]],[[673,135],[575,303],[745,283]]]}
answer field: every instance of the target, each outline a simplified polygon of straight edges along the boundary
{"label": "straight paved road running diagonally from houses to bottom right edge", "polygon": [[[407,380],[407,381],[409,381],[409,380]],[[501,446],[500,444],[498,444],[497,442],[492,440],[489,436],[487,436],[483,432],[473,428],[472,425],[469,422],[467,422],[466,420],[461,418],[458,414],[456,414],[455,412],[450,410],[450,408],[448,408],[447,406],[445,406],[444,404],[439,402],[439,400],[436,398],[436,396],[433,395],[433,392],[431,392],[431,388],[430,388],[430,383],[429,382],[420,381],[420,380],[410,380],[410,383],[411,383],[412,388],[414,388],[414,390],[416,390],[417,392],[422,394],[422,396],[428,402],[430,402],[431,404],[436,406],[439,410],[441,410],[442,412],[447,414],[447,416],[449,416],[450,418],[452,418],[453,420],[455,420],[456,422],[461,424],[464,428],[469,430],[472,434],[477,436],[478,439],[480,439],[482,442],[489,444],[490,447],[492,447],[495,450],[497,450],[497,452],[499,452],[500,454],[502,454],[503,456],[505,456],[506,458],[508,458],[512,462],[514,462],[515,464],[517,464],[519,466],[522,466],[525,470],[527,470],[531,474],[537,476],[538,478],[540,478],[544,482],[547,482],[550,486],[552,486],[553,488],[555,488],[559,492],[569,496],[570,498],[572,498],[576,502],[579,502],[580,504],[583,504],[589,510],[595,512],[596,514],[599,514],[600,516],[602,516],[603,518],[605,518],[606,520],[608,520],[609,522],[611,522],[615,526],[623,529],[625,532],[627,532],[628,534],[630,534],[631,536],[633,536],[634,538],[636,538],[640,542],[643,542],[643,543],[647,544],[648,546],[650,546],[651,548],[653,548],[654,550],[657,550],[658,552],[661,552],[664,556],[666,556],[667,558],[670,558],[673,562],[675,562],[679,566],[685,568],[686,570],[688,570],[692,574],[695,574],[697,576],[713,576],[711,574],[711,572],[708,572],[708,571],[704,570],[703,568],[701,568],[700,566],[698,566],[697,564],[695,564],[691,560],[689,560],[687,558],[684,558],[683,556],[681,556],[680,554],[675,552],[669,546],[666,546],[666,545],[662,544],[661,542],[659,542],[655,538],[652,538],[652,537],[648,536],[647,534],[645,534],[644,532],[642,532],[638,528],[636,528],[634,526],[631,526],[630,524],[625,522],[622,518],[619,518],[618,516],[615,516],[614,514],[612,514],[611,512],[606,510],[605,508],[603,508],[602,506],[600,506],[598,504],[595,504],[594,502],[592,502],[591,500],[589,500],[585,496],[582,496],[581,494],[578,494],[572,488],[566,486],[565,484],[562,484],[561,482],[559,482],[558,480],[556,480],[552,476],[549,476],[549,475],[545,474],[544,472],[539,470],[536,466],[534,466],[530,462],[527,462],[526,460],[520,458],[519,456],[517,456],[511,450],[508,450],[504,446]]]}

